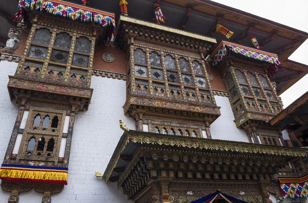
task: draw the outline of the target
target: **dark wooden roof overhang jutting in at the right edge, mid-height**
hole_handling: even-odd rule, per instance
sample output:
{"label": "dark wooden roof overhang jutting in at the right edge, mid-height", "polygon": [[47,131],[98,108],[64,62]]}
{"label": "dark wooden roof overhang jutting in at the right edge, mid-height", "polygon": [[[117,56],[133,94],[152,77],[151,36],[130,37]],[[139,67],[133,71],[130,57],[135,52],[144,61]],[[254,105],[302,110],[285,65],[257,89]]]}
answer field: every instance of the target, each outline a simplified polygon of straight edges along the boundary
{"label": "dark wooden roof overhang jutting in at the right edge, mid-height", "polygon": [[289,128],[295,130],[298,137],[308,129],[308,92],[295,100],[278,115],[269,121],[280,130]]}

